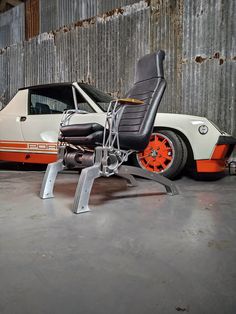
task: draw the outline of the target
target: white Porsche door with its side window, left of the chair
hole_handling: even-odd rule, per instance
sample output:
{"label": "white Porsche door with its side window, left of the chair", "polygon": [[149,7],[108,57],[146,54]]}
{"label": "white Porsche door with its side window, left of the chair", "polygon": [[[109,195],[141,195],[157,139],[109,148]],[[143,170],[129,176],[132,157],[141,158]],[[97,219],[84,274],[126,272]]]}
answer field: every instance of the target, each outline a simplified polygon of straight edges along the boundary
{"label": "white Porsche door with its side window, left of the chair", "polygon": [[[72,85],[58,84],[46,87],[34,87],[29,90],[28,114],[21,123],[22,134],[26,142],[37,147],[56,147],[60,121],[65,110],[75,109]],[[85,116],[94,115],[95,110],[76,91],[78,108],[81,111],[77,123],[86,122]]]}

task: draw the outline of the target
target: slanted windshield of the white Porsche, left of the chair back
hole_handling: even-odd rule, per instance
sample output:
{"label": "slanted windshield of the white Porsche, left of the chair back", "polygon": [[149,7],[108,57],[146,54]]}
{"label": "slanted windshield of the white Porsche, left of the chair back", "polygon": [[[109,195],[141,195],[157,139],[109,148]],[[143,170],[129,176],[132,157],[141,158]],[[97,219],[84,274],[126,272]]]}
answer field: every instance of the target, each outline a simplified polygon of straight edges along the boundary
{"label": "slanted windshield of the white Porsche, left of the chair back", "polygon": [[102,111],[107,111],[110,101],[114,98],[91,85],[85,83],[78,84]]}

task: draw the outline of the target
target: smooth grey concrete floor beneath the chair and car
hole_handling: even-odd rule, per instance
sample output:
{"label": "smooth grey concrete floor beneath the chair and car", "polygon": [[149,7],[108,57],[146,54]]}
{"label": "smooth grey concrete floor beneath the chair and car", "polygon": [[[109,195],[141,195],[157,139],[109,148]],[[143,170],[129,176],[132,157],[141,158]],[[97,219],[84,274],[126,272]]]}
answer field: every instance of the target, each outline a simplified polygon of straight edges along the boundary
{"label": "smooth grey concrete floor beneath the chair and car", "polygon": [[98,179],[82,215],[77,175],[50,200],[42,178],[0,171],[1,314],[236,313],[236,176],[184,177],[173,197]]}

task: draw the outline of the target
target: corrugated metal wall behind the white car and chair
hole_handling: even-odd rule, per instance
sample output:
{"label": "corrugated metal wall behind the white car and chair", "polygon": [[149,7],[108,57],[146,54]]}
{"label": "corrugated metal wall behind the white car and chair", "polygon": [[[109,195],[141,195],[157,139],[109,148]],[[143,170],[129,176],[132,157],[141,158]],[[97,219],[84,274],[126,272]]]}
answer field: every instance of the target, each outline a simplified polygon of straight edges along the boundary
{"label": "corrugated metal wall behind the white car and chair", "polygon": [[236,136],[234,0],[41,0],[39,10],[40,35],[0,46],[2,103],[22,86],[74,80],[123,95],[137,59],[161,48],[168,87],[160,111],[203,115]]}

